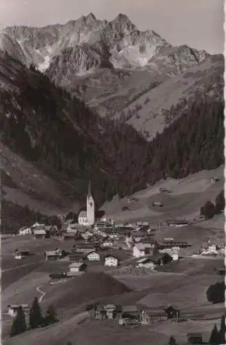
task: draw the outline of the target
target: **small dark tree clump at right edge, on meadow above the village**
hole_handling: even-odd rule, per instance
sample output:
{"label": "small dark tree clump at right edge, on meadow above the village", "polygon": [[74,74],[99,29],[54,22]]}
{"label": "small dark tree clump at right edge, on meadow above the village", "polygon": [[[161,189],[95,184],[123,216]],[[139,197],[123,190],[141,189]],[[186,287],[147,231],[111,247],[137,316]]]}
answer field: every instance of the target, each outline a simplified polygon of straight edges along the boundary
{"label": "small dark tree clump at right edge, on meadow above the village", "polygon": [[214,215],[218,215],[221,211],[225,209],[225,190],[217,195],[215,199],[215,205],[212,201],[207,201],[204,206],[200,209],[200,214],[205,216],[205,219],[211,219]]}

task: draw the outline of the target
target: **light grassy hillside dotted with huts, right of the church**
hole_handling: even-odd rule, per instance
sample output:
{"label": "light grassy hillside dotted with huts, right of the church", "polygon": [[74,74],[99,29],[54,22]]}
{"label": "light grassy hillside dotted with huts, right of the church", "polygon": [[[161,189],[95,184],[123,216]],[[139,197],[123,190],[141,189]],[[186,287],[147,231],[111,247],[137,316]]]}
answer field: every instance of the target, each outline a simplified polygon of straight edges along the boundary
{"label": "light grassy hillside dotted with huts, right of the church", "polygon": [[[223,190],[225,179],[223,176],[224,167],[220,166],[215,170],[202,170],[183,179],[163,179],[154,186],[149,186],[131,195],[137,201],[128,202],[127,198],[119,199],[114,197],[112,201],[106,201],[101,207],[107,216],[117,221],[130,221],[138,219],[149,219],[153,222],[171,219],[172,217],[187,217],[193,219],[200,213],[200,208],[207,200],[215,202],[215,198]],[[220,181],[212,184],[211,177],[218,177]],[[169,188],[172,192],[159,193],[159,188]],[[161,201],[162,208],[152,207],[153,201]],[[129,211],[122,211],[127,206]],[[215,217],[214,217],[215,218]],[[218,219],[218,216],[216,216]],[[223,215],[220,228],[223,230]],[[214,219],[212,227],[214,228]],[[172,231],[169,230],[169,232]],[[180,229],[183,237],[184,230]],[[161,234],[160,234],[161,235]],[[167,233],[165,233],[167,237]],[[191,236],[192,237],[192,236]]]}

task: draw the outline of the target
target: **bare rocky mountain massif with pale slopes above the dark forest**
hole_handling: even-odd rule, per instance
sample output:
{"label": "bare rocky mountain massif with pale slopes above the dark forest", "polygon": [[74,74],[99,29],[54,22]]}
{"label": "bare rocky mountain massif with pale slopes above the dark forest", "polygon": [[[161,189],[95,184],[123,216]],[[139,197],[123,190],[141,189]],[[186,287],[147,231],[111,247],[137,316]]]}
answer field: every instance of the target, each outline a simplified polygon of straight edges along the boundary
{"label": "bare rocky mountain massif with pale slopes above the dark forest", "polygon": [[25,66],[34,64],[99,115],[129,117],[141,132],[145,126],[149,138],[166,126],[172,106],[183,108],[197,91],[223,89],[222,55],[174,47],[153,30],[138,30],[125,14],[112,21],[90,13],[62,25],[8,27],[0,47]]}

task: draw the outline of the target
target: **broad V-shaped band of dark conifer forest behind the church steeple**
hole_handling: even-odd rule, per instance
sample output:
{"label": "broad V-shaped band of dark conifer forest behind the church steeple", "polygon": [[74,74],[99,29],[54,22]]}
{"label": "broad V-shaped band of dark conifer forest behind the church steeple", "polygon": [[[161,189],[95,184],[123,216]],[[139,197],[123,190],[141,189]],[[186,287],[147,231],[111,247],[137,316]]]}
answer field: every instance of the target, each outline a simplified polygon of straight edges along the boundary
{"label": "broad V-shaped band of dark conifer forest behind the church steeple", "polygon": [[99,117],[40,72],[24,73],[17,75],[20,94],[14,102],[12,92],[3,92],[3,112],[14,116],[0,118],[1,140],[56,181],[68,181],[68,197],[85,204],[91,180],[100,206],[116,194],[125,197],[159,179],[224,162],[223,101],[197,95],[148,142],[120,119]]}

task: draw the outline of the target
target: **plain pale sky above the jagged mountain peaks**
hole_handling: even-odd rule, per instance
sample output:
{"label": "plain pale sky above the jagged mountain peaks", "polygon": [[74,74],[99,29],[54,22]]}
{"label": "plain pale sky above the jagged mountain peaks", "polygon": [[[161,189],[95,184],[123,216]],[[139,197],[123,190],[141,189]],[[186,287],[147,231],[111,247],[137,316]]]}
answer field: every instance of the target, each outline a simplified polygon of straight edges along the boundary
{"label": "plain pale sky above the jagged mountain peaks", "polygon": [[0,0],[0,28],[66,23],[92,12],[97,19],[127,14],[172,45],[223,53],[224,0]]}

